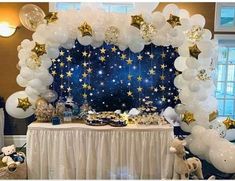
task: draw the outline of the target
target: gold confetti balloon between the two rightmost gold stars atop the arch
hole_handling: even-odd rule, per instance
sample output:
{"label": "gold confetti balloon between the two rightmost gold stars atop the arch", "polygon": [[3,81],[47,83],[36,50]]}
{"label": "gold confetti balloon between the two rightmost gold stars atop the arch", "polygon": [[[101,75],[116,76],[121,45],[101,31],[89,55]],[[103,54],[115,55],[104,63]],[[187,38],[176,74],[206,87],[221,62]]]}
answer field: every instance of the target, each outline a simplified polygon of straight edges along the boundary
{"label": "gold confetti balloon between the two rightmost gold stars atop the arch", "polygon": [[145,42],[149,43],[156,35],[157,29],[153,24],[142,22],[140,25],[140,35],[144,39]]}

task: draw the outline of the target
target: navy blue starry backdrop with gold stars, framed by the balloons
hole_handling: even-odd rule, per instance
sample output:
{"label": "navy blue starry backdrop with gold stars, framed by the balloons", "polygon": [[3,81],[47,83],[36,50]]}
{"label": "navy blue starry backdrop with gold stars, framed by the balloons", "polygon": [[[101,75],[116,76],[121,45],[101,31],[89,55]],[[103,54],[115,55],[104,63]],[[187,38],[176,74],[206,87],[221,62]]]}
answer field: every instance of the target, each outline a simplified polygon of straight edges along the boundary
{"label": "navy blue starry backdrop with gold stars, framed by the balloons", "polygon": [[78,41],[72,49],[60,49],[50,73],[51,88],[59,96],[72,96],[80,106],[84,99],[96,111],[129,110],[139,107],[149,96],[158,112],[179,103],[174,78],[177,49],[168,46],[145,46],[140,53],[120,51],[114,45],[99,48],[82,46]]}

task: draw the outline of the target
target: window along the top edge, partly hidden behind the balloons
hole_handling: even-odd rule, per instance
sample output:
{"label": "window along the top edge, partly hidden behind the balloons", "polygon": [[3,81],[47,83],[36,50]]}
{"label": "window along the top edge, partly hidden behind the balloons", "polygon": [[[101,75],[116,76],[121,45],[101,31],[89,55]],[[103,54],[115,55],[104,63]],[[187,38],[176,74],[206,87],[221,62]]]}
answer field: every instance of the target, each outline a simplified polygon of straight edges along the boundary
{"label": "window along the top edge, partly hidden behind the balloons", "polygon": [[[106,12],[127,13],[133,10],[133,3],[98,3]],[[79,10],[81,3],[79,2],[55,2],[49,3],[50,11],[61,11],[68,9]]]}

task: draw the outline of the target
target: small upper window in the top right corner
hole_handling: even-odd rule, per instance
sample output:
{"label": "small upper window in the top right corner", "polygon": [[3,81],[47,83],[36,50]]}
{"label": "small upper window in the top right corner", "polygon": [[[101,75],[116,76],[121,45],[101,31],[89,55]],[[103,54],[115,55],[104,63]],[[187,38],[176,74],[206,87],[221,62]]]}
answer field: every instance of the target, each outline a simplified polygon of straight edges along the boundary
{"label": "small upper window in the top right corner", "polygon": [[235,32],[235,3],[216,3],[215,31]]}

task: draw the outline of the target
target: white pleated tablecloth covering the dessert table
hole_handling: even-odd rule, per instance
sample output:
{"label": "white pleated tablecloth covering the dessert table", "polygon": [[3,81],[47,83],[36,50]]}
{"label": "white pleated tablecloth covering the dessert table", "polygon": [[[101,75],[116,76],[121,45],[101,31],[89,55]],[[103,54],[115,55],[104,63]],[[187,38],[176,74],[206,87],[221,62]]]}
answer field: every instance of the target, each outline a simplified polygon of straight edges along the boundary
{"label": "white pleated tablecloth covering the dessert table", "polygon": [[170,179],[173,128],[91,127],[32,123],[27,131],[30,179]]}

